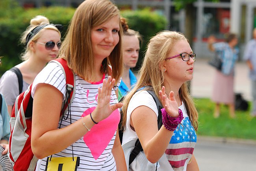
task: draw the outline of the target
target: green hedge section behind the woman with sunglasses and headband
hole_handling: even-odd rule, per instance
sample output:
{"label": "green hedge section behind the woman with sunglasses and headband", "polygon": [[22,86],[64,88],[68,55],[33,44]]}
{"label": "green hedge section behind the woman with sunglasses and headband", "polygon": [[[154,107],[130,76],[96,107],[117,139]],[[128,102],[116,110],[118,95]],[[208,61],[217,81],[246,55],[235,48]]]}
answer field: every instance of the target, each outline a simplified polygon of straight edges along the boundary
{"label": "green hedge section behind the woman with sunglasses and headband", "polygon": [[[30,25],[30,20],[33,17],[43,15],[50,20],[50,23],[62,24],[63,38],[75,11],[75,9],[67,7],[42,7],[26,10],[16,6],[12,0],[1,0],[0,7],[0,11],[2,11],[0,12],[0,56],[3,56],[3,65],[0,67],[1,75],[21,62],[20,54],[24,51],[24,45],[20,44],[20,36]],[[3,11],[6,11],[7,14]]]}

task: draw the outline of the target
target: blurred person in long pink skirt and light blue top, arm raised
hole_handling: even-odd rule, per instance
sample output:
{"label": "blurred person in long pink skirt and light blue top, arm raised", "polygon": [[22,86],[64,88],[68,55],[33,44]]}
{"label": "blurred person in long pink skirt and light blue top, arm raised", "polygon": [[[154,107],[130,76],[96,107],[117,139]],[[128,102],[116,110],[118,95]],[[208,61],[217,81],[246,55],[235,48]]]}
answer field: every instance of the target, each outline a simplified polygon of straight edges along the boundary
{"label": "blurred person in long pink skirt and light blue top, arm raised", "polygon": [[239,50],[236,48],[238,43],[237,35],[228,33],[225,42],[215,43],[214,36],[208,38],[208,48],[220,54],[222,59],[221,71],[216,70],[213,81],[212,101],[215,102],[214,118],[220,115],[220,104],[227,104],[229,116],[235,118],[235,96],[234,96],[234,67],[238,58]]}

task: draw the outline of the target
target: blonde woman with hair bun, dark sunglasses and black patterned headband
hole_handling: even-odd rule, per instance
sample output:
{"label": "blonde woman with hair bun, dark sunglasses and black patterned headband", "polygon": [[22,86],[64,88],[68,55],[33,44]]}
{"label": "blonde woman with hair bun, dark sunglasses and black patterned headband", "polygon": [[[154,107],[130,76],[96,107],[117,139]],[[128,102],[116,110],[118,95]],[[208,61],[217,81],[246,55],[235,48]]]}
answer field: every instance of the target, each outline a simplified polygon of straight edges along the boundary
{"label": "blonde woman with hair bun, dark sunglasses and black patterned headband", "polygon": [[25,44],[25,51],[21,56],[23,62],[16,65],[15,69],[21,73],[21,85],[12,70],[6,71],[0,79],[0,93],[6,99],[10,115],[15,99],[20,94],[19,86],[22,87],[21,92],[24,92],[46,63],[58,56],[61,33],[56,25],[50,24],[48,18],[39,15],[30,20],[30,26],[24,31],[20,41]]}

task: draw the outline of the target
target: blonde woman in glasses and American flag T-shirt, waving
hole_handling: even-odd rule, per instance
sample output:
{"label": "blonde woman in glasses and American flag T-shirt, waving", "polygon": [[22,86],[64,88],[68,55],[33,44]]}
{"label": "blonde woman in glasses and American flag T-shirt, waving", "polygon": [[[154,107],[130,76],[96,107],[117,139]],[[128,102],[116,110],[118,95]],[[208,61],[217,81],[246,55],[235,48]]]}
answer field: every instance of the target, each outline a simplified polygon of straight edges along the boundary
{"label": "blonde woman in glasses and American flag T-shirt, waving", "polygon": [[[131,153],[137,138],[143,148],[130,164],[130,171],[199,170],[193,155],[198,113],[187,90],[195,57],[181,33],[162,31],[150,39],[140,77],[122,107],[124,155]],[[160,113],[148,89],[160,100]],[[159,114],[163,125],[158,130]]]}

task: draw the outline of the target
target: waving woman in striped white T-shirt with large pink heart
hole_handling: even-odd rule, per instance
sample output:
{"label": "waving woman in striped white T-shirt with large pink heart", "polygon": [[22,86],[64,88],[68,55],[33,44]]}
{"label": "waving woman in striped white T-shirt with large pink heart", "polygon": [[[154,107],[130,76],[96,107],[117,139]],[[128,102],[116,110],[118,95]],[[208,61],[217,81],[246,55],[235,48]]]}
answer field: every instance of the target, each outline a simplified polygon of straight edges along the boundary
{"label": "waving woman in striped white T-shirt with large pink heart", "polygon": [[47,64],[32,86],[31,144],[41,159],[36,170],[52,164],[46,162],[47,156],[80,157],[77,171],[126,170],[117,131],[122,107],[116,95],[123,68],[121,39],[119,9],[111,1],[85,0],[76,9],[59,54],[75,77],[74,98],[62,122],[67,91],[61,67]]}

